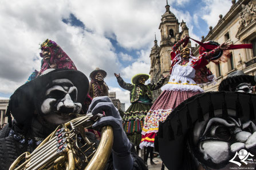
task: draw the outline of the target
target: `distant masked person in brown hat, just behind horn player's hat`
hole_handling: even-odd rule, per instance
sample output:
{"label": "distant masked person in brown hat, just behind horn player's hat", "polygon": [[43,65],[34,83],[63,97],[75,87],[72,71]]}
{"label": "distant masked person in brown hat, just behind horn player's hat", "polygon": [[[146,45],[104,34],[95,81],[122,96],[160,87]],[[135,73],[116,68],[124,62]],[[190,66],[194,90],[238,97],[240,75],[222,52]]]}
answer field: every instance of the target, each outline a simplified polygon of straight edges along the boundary
{"label": "distant masked person in brown hat, just behind horn player's hat", "polygon": [[107,72],[96,68],[93,72],[90,73],[90,90],[89,95],[92,98],[99,96],[108,96],[108,86],[104,82],[104,78],[107,76]]}

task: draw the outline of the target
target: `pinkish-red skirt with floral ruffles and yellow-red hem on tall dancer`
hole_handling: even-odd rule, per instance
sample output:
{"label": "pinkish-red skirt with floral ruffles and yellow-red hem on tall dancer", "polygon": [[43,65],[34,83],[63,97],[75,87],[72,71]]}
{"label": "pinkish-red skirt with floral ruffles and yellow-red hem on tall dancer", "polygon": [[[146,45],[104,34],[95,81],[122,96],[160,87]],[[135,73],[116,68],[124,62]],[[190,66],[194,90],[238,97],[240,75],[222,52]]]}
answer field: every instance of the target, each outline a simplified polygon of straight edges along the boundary
{"label": "pinkish-red skirt with floral ruffles and yellow-red hem on tall dancer", "polygon": [[166,120],[172,110],[184,100],[200,94],[200,91],[168,91],[165,90],[156,99],[144,119],[144,126],[141,132],[140,148],[154,147],[155,135],[158,132],[159,121]]}

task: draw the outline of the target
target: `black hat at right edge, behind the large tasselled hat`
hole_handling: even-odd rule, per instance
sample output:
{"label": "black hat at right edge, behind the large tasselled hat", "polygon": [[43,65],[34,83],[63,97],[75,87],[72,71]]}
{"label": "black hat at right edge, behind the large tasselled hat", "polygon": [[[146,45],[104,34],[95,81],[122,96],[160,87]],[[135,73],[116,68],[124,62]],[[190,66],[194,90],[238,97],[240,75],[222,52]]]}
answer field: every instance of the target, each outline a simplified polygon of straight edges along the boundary
{"label": "black hat at right edge, behind the large tasselled hat", "polygon": [[219,91],[230,91],[229,86],[237,86],[240,83],[251,83],[255,85],[254,76],[246,75],[242,70],[231,72],[227,78],[219,84]]}

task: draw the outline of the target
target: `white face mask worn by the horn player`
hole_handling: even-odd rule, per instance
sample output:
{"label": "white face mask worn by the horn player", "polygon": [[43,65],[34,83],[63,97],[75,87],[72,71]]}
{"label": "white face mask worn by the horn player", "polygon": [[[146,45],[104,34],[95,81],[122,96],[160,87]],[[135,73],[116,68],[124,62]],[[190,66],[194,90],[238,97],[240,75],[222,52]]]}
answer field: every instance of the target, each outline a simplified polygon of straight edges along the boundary
{"label": "white face mask worn by the horn player", "polygon": [[66,123],[81,111],[81,103],[76,103],[77,88],[68,79],[56,79],[45,92],[41,104],[41,115],[52,124]]}

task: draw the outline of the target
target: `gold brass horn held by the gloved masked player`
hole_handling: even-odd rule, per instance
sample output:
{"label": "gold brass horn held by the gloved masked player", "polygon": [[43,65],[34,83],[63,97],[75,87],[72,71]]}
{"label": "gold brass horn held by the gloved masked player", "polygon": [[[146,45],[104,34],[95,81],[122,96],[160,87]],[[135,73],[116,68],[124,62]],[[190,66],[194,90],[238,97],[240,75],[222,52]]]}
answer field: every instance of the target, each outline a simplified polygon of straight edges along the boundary
{"label": "gold brass horn held by the gloved masked player", "polygon": [[[96,149],[85,136],[84,128],[93,124],[90,118],[92,114],[58,126],[31,154],[22,153],[9,169],[104,169],[111,153],[113,129],[103,127]],[[85,154],[88,151],[90,155]]]}

